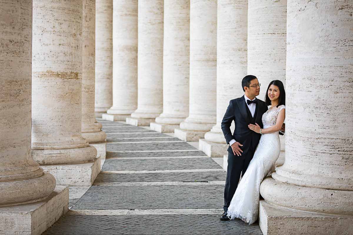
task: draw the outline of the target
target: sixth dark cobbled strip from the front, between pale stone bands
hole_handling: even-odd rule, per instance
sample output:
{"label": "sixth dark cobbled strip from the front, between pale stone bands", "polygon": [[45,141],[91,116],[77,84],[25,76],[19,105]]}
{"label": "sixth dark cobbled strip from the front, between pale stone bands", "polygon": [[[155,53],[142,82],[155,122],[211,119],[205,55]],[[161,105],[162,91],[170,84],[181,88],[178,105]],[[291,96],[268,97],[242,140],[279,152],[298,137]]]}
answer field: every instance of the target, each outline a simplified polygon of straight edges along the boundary
{"label": "sixth dark cobbled strip from the front, between pale stone bands", "polygon": [[113,144],[107,143],[107,151],[144,151],[144,150],[190,150],[195,149],[186,142],[170,143],[125,143]]}

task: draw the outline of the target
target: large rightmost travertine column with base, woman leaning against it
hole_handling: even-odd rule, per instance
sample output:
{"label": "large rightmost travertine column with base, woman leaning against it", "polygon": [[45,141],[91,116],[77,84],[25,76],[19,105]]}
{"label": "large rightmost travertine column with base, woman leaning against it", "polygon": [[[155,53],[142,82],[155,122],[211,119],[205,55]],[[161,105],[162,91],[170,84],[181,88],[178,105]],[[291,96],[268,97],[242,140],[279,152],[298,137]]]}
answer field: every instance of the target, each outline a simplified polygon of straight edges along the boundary
{"label": "large rightmost travertine column with base, woman leaning against it", "polygon": [[261,184],[260,226],[264,234],[350,234],[353,4],[288,0],[287,9],[286,159]]}

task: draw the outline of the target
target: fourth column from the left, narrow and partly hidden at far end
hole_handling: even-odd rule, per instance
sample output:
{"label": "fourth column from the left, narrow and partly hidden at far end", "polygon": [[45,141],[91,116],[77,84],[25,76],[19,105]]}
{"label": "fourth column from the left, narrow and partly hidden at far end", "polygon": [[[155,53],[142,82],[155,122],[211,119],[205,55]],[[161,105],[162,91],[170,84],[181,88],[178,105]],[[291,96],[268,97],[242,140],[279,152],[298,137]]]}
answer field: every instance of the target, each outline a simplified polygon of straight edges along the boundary
{"label": "fourth column from the left, narrow and partly hidden at far end", "polygon": [[95,116],[113,105],[113,0],[96,1]]}

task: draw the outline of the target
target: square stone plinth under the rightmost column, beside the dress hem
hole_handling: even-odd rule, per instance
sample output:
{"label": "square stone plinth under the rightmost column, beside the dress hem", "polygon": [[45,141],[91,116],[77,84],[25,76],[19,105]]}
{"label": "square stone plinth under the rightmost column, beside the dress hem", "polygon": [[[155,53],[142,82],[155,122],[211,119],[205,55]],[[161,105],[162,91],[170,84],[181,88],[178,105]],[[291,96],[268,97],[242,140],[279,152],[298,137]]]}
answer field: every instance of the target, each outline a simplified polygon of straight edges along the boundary
{"label": "square stone plinth under the rightmost column, beside the dress hem", "polygon": [[353,216],[289,210],[260,200],[259,225],[263,235],[349,235],[353,231]]}

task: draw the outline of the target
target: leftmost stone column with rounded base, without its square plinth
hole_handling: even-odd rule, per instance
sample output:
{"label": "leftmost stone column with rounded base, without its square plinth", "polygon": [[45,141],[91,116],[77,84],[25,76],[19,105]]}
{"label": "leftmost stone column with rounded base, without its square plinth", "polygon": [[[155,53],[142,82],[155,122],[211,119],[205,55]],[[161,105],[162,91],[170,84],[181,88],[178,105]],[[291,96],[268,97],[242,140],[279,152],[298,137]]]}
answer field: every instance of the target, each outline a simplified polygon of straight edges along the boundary
{"label": "leftmost stone column with rounded base, without its square plinth", "polygon": [[0,2],[0,206],[41,200],[55,188],[31,157],[32,0]]}

